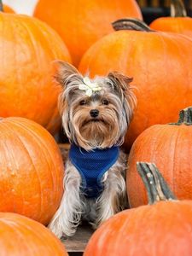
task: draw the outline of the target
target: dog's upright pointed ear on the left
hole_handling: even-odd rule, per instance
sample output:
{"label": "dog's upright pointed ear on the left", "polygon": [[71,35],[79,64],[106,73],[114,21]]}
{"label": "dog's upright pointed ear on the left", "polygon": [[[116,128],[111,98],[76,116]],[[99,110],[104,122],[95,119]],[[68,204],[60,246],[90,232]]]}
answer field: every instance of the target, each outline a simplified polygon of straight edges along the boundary
{"label": "dog's upright pointed ear on the left", "polygon": [[62,87],[66,87],[72,79],[82,80],[82,75],[72,64],[65,61],[54,61],[54,66],[54,78]]}

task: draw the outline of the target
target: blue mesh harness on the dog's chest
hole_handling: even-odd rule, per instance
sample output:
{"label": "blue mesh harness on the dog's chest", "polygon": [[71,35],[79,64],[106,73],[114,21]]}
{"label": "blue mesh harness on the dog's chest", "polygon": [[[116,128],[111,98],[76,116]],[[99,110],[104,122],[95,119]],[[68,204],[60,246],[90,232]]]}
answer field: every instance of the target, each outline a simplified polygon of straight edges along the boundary
{"label": "blue mesh harness on the dog's chest", "polygon": [[82,189],[87,198],[96,198],[102,193],[102,176],[113,166],[118,157],[118,147],[86,151],[75,144],[71,145],[69,159],[81,175]]}

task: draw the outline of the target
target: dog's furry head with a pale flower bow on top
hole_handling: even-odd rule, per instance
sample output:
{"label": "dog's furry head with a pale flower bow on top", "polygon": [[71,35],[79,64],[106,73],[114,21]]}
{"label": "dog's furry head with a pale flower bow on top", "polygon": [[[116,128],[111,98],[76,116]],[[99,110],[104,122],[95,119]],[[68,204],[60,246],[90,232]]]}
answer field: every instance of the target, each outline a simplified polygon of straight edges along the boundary
{"label": "dog's furry head with a pale flower bow on top", "polygon": [[85,150],[122,144],[136,102],[132,79],[118,72],[89,79],[67,62],[58,65],[59,109],[70,142]]}

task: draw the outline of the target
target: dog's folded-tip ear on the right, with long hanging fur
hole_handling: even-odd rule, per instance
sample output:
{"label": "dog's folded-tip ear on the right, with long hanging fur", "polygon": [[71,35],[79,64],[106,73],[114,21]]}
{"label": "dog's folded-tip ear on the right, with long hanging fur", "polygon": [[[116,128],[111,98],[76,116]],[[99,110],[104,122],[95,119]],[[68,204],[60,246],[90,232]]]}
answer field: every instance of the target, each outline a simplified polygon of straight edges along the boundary
{"label": "dog's folded-tip ear on the right, with long hanging fur", "polygon": [[119,95],[123,106],[123,115],[125,116],[127,125],[129,125],[137,102],[136,96],[132,90],[133,87],[130,85],[133,79],[114,71],[108,73],[108,80],[115,93]]}

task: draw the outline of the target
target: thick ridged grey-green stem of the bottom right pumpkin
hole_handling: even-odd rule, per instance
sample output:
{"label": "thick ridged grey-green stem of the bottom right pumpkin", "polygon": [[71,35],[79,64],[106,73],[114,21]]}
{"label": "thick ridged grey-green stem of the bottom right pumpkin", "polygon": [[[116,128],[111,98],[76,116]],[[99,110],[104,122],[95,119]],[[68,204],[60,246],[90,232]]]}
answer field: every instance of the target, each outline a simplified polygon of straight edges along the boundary
{"label": "thick ridged grey-green stem of the bottom right pumpkin", "polygon": [[157,166],[152,163],[137,162],[137,171],[147,189],[150,205],[157,201],[176,200]]}

